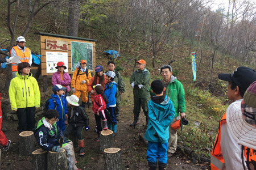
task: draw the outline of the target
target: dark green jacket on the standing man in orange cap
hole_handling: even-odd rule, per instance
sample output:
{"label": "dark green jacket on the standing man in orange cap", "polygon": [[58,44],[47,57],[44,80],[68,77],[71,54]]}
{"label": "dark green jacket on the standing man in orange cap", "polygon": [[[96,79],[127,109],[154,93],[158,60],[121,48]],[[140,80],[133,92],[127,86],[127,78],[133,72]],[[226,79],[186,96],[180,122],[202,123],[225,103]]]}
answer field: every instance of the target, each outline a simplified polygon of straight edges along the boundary
{"label": "dark green jacket on the standing man in orange cap", "polygon": [[[150,73],[147,69],[136,70],[130,78],[130,84],[134,82],[133,95],[138,98],[148,98],[149,97],[149,82]],[[142,84],[143,87],[139,88],[138,85]]]}

